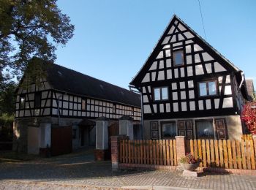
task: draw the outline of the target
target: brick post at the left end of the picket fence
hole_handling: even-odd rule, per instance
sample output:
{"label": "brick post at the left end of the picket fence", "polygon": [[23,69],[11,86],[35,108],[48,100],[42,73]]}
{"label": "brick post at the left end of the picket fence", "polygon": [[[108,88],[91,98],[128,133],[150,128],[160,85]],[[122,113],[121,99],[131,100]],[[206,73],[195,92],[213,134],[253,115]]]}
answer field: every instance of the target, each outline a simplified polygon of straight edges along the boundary
{"label": "brick post at the left end of the picket fence", "polygon": [[112,162],[112,170],[118,170],[119,156],[120,156],[120,140],[127,139],[129,137],[126,135],[118,135],[111,137],[111,162]]}

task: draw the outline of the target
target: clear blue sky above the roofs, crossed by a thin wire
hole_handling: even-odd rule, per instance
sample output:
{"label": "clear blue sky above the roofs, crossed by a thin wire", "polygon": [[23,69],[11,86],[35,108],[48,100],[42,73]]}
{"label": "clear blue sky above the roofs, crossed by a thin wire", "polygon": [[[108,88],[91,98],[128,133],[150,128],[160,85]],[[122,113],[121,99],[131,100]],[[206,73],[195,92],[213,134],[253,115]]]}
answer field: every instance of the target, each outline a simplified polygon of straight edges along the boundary
{"label": "clear blue sky above the roofs, crossed by a thin wire", "polygon": [[[58,1],[75,35],[56,64],[128,88],[173,14],[205,39],[197,0]],[[206,41],[254,79],[256,1],[200,0]]]}

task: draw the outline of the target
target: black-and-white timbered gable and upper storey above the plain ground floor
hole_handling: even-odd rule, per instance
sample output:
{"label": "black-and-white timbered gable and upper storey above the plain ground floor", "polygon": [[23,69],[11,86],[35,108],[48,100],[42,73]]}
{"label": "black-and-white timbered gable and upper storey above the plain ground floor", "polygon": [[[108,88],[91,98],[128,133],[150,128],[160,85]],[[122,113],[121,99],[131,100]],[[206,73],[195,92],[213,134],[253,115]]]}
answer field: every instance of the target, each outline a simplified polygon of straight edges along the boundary
{"label": "black-and-white timbered gable and upper storey above the plain ground floor", "polygon": [[194,118],[240,113],[243,73],[176,15],[130,83],[140,89],[143,118]]}

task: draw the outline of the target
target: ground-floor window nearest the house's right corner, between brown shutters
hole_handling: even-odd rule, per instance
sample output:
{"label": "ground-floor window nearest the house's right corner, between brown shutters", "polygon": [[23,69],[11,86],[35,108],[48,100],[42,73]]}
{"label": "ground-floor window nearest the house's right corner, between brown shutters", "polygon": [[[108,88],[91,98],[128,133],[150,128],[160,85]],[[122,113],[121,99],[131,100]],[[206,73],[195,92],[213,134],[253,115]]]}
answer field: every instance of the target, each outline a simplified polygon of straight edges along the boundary
{"label": "ground-floor window nearest the house's right corner, between brown shutters", "polygon": [[198,139],[214,139],[214,125],[212,120],[195,121]]}

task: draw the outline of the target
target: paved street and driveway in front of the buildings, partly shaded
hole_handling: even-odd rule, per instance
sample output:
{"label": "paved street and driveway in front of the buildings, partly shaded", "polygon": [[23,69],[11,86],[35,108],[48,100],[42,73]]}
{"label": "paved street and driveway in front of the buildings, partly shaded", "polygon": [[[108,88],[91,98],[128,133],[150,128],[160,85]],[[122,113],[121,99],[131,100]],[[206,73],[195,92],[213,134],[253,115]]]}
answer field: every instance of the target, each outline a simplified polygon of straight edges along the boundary
{"label": "paved street and driveway in front of the buildings, partly shaded", "polygon": [[[95,162],[91,151],[0,163],[0,189],[256,189],[256,177],[204,173],[185,178],[178,171],[121,170]],[[169,188],[170,189],[170,188]]]}

